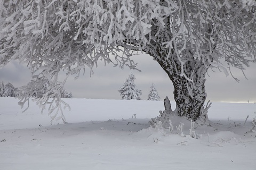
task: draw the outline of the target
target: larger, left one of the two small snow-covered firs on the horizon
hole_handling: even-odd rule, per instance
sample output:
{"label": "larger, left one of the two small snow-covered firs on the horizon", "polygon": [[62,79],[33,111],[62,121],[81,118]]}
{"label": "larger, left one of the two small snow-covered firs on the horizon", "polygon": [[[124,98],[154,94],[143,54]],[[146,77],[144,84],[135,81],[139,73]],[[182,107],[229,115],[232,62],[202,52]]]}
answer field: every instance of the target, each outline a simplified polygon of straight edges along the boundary
{"label": "larger, left one of the two small snow-covered firs on the horizon", "polygon": [[131,99],[136,99],[136,100],[141,100],[139,95],[142,94],[141,90],[138,90],[134,83],[135,76],[134,74],[130,74],[129,78],[126,79],[124,82],[124,86],[121,87],[118,91],[120,92],[120,95],[122,96],[122,99],[124,100],[131,100]]}

